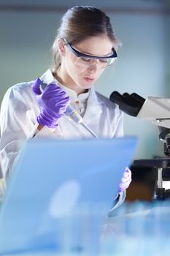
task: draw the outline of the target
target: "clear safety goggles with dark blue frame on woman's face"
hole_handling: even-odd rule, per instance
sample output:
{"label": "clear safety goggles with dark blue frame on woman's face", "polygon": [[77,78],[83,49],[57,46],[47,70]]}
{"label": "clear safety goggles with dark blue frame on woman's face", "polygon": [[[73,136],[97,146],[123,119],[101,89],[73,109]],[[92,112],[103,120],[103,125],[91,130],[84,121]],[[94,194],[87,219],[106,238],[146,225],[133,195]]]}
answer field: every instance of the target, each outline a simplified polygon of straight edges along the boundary
{"label": "clear safety goggles with dark blue frame on woman's face", "polygon": [[93,64],[97,64],[98,68],[104,69],[113,64],[113,62],[117,59],[117,53],[114,48],[112,48],[112,54],[110,56],[92,56],[85,53],[81,53],[79,50],[72,47],[72,45],[63,39],[68,46],[69,50],[74,53],[71,57],[72,61],[75,65],[79,67],[88,68]]}

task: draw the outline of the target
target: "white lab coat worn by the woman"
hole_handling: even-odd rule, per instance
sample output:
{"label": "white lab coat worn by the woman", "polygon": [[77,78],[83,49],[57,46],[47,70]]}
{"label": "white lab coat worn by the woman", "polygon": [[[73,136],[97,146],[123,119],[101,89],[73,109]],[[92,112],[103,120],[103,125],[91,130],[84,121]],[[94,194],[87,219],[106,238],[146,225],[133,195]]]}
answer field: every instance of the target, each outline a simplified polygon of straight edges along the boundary
{"label": "white lab coat worn by the woman", "polygon": [[[42,75],[41,79],[45,83],[55,81],[50,69]],[[4,177],[11,172],[23,141],[30,138],[37,124],[36,117],[39,115],[40,108],[31,90],[32,83],[34,81],[18,83],[9,88],[1,104],[0,170]],[[93,87],[90,89],[83,120],[98,135],[98,138],[123,136],[122,112],[117,105],[107,97],[98,94]],[[55,131],[45,127],[36,136],[66,140],[92,137],[90,132],[70,120],[68,116],[59,119],[58,128]]]}

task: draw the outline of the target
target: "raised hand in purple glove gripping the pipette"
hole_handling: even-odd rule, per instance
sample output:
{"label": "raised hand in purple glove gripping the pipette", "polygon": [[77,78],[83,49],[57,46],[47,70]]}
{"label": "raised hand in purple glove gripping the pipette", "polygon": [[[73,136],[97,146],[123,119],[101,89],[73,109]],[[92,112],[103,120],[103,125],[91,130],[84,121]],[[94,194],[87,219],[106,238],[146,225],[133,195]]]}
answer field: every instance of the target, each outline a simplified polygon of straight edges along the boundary
{"label": "raised hand in purple glove gripping the pipette", "polygon": [[58,119],[66,112],[70,99],[57,83],[50,83],[43,92],[40,90],[41,83],[42,81],[37,78],[32,85],[36,101],[41,107],[37,121],[39,124],[46,125],[49,128],[56,128]]}

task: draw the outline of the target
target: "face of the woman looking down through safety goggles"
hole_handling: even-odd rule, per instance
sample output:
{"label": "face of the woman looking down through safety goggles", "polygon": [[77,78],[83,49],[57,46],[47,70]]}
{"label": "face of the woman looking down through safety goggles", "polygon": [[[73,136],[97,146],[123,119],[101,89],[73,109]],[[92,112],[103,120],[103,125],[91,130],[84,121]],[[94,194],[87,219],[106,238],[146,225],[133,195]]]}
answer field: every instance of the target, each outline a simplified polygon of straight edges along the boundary
{"label": "face of the woman looking down through safety goggles", "polygon": [[[90,56],[110,56],[114,45],[109,37],[98,36],[89,37],[76,45],[72,45],[72,47]],[[72,49],[68,45],[64,45],[64,54],[58,76],[63,80],[65,86],[80,94],[93,86],[105,68],[104,60],[92,59],[89,62],[86,59],[77,58]]]}

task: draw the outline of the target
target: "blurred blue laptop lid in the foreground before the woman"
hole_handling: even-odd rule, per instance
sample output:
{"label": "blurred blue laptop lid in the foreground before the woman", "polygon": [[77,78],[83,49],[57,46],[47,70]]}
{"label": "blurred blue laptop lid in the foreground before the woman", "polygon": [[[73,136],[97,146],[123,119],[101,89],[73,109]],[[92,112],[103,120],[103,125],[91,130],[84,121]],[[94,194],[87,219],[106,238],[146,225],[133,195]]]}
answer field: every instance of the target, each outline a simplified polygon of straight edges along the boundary
{"label": "blurred blue laptop lid in the foreground before the woman", "polygon": [[0,255],[94,245],[136,144],[136,138],[28,141],[0,208]]}

